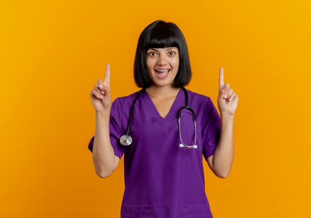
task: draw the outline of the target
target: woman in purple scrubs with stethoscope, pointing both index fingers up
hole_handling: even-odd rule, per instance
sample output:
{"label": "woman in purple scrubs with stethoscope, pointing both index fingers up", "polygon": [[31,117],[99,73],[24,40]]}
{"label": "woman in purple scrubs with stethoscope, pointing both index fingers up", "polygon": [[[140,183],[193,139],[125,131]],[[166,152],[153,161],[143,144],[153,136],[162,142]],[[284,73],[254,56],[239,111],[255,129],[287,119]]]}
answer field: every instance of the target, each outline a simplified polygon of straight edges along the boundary
{"label": "woman in purple scrubs with stethoscope, pointing both index fingers up", "polygon": [[238,102],[223,68],[219,115],[210,97],[184,88],[191,79],[185,38],[175,24],[157,20],[139,37],[134,78],[142,89],[112,102],[107,64],[104,81],[90,93],[96,127],[88,148],[96,174],[111,175],[124,154],[121,218],[213,218],[202,155],[215,175],[229,175]]}

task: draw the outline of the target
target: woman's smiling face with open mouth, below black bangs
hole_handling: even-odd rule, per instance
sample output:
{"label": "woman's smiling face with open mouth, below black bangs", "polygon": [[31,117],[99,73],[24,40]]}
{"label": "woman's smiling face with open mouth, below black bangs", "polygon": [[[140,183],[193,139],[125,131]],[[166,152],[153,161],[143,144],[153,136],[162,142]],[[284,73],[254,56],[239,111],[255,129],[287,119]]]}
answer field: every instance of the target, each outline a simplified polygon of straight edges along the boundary
{"label": "woman's smiling face with open mouth, below black bangs", "polygon": [[153,48],[147,51],[147,69],[156,86],[171,85],[179,67],[179,53],[176,47]]}

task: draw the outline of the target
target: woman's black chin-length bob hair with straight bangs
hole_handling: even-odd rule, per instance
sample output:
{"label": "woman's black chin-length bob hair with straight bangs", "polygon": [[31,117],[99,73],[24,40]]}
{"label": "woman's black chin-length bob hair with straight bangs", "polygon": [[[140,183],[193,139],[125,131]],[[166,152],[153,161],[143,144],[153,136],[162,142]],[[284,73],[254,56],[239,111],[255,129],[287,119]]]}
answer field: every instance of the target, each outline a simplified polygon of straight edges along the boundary
{"label": "woman's black chin-length bob hair with straight bangs", "polygon": [[141,33],[134,61],[134,79],[140,88],[147,88],[154,84],[147,70],[147,51],[151,48],[177,47],[179,53],[179,67],[173,87],[182,87],[191,80],[191,67],[186,40],[181,30],[174,23],[156,20],[149,24]]}

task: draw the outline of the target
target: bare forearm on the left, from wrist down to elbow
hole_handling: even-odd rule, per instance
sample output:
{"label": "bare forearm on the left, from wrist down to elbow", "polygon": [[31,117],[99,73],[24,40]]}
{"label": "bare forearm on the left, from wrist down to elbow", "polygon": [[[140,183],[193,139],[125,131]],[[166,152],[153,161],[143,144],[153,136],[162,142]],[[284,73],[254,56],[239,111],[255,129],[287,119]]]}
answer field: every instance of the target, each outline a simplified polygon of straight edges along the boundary
{"label": "bare forearm on the left, from wrist down to elbow", "polygon": [[96,174],[103,177],[112,172],[115,160],[109,136],[110,110],[95,112],[95,114],[96,127],[92,156]]}

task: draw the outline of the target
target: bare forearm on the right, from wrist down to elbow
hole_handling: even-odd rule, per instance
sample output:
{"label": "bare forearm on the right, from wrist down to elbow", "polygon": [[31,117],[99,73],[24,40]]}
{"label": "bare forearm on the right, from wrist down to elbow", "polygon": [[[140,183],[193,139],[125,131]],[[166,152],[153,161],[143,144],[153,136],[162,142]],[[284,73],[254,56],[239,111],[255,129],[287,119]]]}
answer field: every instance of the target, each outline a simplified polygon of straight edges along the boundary
{"label": "bare forearm on the right, from wrist down to elbow", "polygon": [[213,157],[213,168],[216,175],[227,177],[231,171],[234,156],[233,118],[221,114],[220,139]]}

